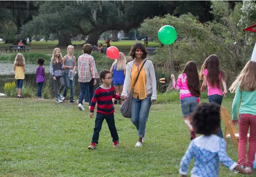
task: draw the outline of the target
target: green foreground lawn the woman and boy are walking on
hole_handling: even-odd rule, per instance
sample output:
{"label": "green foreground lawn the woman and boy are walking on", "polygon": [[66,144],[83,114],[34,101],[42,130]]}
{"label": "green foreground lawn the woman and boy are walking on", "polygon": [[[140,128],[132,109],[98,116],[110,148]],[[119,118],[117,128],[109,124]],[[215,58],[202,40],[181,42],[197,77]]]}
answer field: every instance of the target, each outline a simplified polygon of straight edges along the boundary
{"label": "green foreground lawn the woman and boy are walking on", "polygon": [[[232,100],[223,99],[229,112]],[[85,112],[81,112],[77,104],[69,102],[1,98],[0,176],[179,176],[179,162],[190,143],[179,101],[152,105],[141,148],[135,148],[135,126],[121,116],[116,105],[120,146],[112,147],[104,121],[94,151],[87,149],[94,119],[89,117],[88,104],[84,106]],[[231,141],[227,153],[237,161],[237,149]],[[219,176],[241,175],[221,166]]]}

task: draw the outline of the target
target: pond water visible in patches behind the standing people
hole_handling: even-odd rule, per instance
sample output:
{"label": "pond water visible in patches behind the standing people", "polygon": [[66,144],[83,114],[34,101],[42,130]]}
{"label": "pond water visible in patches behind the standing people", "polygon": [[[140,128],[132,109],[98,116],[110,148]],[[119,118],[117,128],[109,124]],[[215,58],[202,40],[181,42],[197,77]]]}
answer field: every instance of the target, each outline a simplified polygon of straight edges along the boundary
{"label": "pond water visible in patches behind the standing people", "polygon": [[[34,85],[35,89],[38,89],[37,83],[36,83],[36,75],[35,75],[35,68],[37,67],[36,63],[26,63],[26,71],[25,71],[25,82],[30,82]],[[52,88],[52,93],[54,93],[53,90],[53,81],[50,75],[50,67],[49,65],[45,65],[45,72],[46,72],[46,80],[49,81],[49,85]],[[110,69],[111,64],[97,64],[96,68],[98,72],[100,72],[102,69]],[[170,79],[170,74],[168,71],[163,72],[162,68],[155,68],[156,73],[156,83],[157,83],[157,89],[159,92],[164,92],[166,90],[168,79]],[[0,62],[0,92],[3,92],[3,87],[5,83],[13,82],[15,72],[13,71],[13,63],[6,63],[6,62]],[[80,85],[77,81],[78,79],[78,73],[75,75],[76,82],[75,82],[75,96],[78,96],[80,93]],[[166,83],[160,83],[159,79],[165,77],[167,80]],[[99,87],[100,83],[99,80],[97,81],[97,84],[94,86],[94,89]],[[58,87],[59,88],[59,87]]]}

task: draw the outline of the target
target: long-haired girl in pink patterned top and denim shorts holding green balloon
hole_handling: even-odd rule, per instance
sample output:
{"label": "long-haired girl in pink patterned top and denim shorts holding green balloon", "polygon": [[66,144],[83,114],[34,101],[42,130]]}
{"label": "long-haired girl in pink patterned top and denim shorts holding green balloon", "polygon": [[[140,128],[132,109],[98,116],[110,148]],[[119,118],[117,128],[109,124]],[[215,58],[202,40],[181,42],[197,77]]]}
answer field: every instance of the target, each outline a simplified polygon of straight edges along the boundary
{"label": "long-haired girl in pink patterned top and denim shorts holding green balloon", "polygon": [[197,72],[196,63],[190,61],[186,64],[185,69],[179,75],[177,83],[175,76],[171,74],[173,87],[180,90],[181,110],[185,124],[191,132],[191,140],[196,138],[196,133],[191,125],[190,116],[194,112],[197,103],[200,102],[200,82]]}

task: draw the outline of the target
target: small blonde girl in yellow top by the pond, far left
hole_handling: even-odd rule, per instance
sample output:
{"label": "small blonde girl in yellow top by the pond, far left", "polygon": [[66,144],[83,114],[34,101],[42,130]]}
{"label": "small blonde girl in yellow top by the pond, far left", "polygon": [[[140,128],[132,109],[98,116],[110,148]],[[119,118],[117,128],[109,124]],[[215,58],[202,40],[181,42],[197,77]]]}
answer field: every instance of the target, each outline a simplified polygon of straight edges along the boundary
{"label": "small blonde girl in yellow top by the pond, far left", "polygon": [[22,54],[16,55],[13,70],[15,71],[17,98],[23,98],[21,95],[21,89],[25,79],[25,58]]}

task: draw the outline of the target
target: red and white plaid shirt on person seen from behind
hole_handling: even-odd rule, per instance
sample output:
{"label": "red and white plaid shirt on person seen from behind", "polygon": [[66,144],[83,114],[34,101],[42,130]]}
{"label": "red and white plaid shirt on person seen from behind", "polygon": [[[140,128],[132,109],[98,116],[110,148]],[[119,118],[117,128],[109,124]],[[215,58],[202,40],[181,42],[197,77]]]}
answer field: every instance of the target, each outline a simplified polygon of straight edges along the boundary
{"label": "red and white plaid shirt on person seen from behind", "polygon": [[78,81],[80,83],[88,83],[92,78],[99,78],[98,71],[95,66],[93,56],[83,54],[78,58]]}

